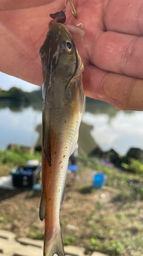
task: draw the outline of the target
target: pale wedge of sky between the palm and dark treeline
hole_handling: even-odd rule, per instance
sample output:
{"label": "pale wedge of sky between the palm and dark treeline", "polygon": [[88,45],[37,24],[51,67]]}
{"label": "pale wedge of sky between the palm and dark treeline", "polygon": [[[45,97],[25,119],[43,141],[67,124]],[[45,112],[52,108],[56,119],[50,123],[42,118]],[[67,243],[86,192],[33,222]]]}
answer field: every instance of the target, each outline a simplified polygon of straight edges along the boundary
{"label": "pale wedge of sky between the palm and dark treeline", "polygon": [[35,84],[0,72],[0,88],[9,90],[13,86],[21,88],[25,92],[31,92],[40,88],[39,86],[35,86]]}

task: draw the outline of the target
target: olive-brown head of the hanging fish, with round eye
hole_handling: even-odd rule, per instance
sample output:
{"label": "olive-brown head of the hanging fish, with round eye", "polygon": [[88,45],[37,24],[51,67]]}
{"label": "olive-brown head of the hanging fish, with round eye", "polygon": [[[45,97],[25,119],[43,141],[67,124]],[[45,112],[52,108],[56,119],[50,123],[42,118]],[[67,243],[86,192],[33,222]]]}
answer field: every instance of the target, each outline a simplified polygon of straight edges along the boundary
{"label": "olive-brown head of the hanging fish, with round eye", "polygon": [[44,44],[40,48],[43,67],[43,81],[52,77],[63,79],[73,76],[78,66],[77,51],[65,25],[55,23],[49,29]]}

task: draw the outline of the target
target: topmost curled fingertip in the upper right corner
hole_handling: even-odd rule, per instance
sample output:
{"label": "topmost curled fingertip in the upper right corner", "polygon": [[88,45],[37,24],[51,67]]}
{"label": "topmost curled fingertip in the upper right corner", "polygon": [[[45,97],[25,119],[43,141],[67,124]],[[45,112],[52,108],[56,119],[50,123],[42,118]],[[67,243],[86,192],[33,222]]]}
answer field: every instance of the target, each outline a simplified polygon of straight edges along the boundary
{"label": "topmost curled fingertip in the upper right corner", "polygon": [[105,27],[108,31],[143,35],[142,0],[111,0],[105,12]]}

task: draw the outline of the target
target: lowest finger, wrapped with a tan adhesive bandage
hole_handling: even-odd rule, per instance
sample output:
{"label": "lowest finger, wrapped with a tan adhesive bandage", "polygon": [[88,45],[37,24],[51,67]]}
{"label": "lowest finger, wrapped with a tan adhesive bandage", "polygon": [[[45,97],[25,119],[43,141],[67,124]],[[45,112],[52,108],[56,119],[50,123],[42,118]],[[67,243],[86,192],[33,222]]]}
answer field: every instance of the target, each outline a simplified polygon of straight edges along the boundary
{"label": "lowest finger, wrapped with a tan adhesive bandage", "polygon": [[116,105],[119,110],[143,110],[143,80],[109,73],[94,66],[83,72],[86,96]]}

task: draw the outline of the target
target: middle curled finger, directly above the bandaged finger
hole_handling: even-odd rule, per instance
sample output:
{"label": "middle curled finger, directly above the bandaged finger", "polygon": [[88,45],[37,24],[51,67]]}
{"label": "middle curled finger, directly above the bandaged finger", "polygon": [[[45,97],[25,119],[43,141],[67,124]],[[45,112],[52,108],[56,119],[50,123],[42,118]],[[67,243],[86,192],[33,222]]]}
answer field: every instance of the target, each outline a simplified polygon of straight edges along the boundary
{"label": "middle curled finger, directly above the bandaged finger", "polygon": [[143,37],[104,32],[96,40],[91,62],[98,68],[143,78]]}

